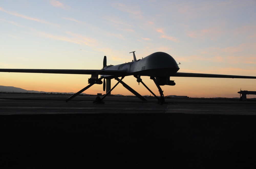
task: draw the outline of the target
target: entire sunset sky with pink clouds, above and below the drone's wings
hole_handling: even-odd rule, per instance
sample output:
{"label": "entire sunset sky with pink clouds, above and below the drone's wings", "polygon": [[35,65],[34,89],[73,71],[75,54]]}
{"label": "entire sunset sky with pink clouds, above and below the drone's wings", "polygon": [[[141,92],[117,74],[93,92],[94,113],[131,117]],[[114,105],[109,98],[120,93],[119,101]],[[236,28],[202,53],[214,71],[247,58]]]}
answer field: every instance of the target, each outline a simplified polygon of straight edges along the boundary
{"label": "entire sunset sky with pink clouds, above and below the drone's wings", "polygon": [[[179,72],[256,76],[256,1],[0,1],[0,68],[101,69],[166,52]],[[90,75],[0,73],[1,86],[77,92]],[[149,77],[143,82],[159,95]],[[171,77],[164,95],[239,97],[256,79]],[[150,95],[134,77],[123,80]],[[116,83],[112,80],[112,86]],[[84,93],[104,93],[94,85]],[[121,84],[111,94],[132,95]],[[253,98],[248,95],[247,98]]]}

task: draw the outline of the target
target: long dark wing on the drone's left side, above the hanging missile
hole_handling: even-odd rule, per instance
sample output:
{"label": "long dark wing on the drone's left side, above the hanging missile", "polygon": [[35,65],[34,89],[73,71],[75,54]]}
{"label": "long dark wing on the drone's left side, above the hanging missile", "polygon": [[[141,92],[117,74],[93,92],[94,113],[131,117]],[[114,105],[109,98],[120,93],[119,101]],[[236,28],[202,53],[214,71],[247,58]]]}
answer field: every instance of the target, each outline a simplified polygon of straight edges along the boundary
{"label": "long dark wing on the drone's left side, above the hanging missile", "polygon": [[122,70],[81,70],[81,69],[0,69],[0,72],[19,72],[19,73],[56,73],[56,74],[83,74],[91,75],[98,73],[99,75],[126,75]]}

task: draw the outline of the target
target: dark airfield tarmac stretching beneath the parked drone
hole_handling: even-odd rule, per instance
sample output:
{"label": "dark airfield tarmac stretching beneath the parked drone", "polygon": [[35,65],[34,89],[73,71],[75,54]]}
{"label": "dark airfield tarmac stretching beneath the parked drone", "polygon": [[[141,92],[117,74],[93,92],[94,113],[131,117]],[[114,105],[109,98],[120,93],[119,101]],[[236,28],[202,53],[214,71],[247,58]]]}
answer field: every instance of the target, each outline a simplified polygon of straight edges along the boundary
{"label": "dark airfield tarmac stretching beneath the parked drone", "polygon": [[256,103],[0,94],[3,168],[255,168]]}

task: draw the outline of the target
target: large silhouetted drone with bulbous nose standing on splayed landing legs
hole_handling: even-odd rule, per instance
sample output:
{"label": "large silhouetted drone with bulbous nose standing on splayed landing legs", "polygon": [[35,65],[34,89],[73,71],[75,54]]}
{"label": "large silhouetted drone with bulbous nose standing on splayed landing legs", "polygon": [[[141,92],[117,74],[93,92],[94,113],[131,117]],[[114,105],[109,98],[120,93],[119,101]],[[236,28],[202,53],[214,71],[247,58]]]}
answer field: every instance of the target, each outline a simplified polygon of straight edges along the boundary
{"label": "large silhouetted drone with bulbous nose standing on splayed landing legs", "polygon": [[[134,76],[137,82],[142,83],[148,91],[150,91],[157,99],[159,104],[163,104],[164,94],[160,86],[169,85],[174,86],[174,80],[170,80],[170,77],[210,77],[210,78],[247,78],[256,79],[255,76],[235,76],[235,75],[216,75],[216,74],[201,74],[201,73],[178,73],[179,66],[176,61],[169,54],[164,52],[156,52],[144,57],[143,59],[136,59],[135,51],[133,53],[132,62],[123,63],[120,65],[107,65],[106,56],[103,59],[103,68],[100,70],[83,70],[83,69],[0,69],[0,72],[22,72],[22,73],[56,73],[56,74],[89,74],[91,78],[88,79],[90,85],[86,86],[79,92],[73,94],[66,99],[68,102],[70,99],[76,97],[83,91],[87,90],[94,84],[103,83],[103,91],[106,89],[106,94],[100,98],[96,97],[96,103],[101,103],[103,98],[121,83],[126,89],[136,95],[143,101],[146,99],[129,87],[122,80],[125,76]],[[100,78],[98,76],[100,75]],[[160,98],[158,98],[146,85],[143,83],[141,76],[149,76],[150,79],[156,84]],[[119,79],[121,77],[121,79]],[[103,79],[103,82],[101,81]],[[106,79],[106,81],[105,81]],[[118,82],[111,88],[111,79],[115,79]]]}

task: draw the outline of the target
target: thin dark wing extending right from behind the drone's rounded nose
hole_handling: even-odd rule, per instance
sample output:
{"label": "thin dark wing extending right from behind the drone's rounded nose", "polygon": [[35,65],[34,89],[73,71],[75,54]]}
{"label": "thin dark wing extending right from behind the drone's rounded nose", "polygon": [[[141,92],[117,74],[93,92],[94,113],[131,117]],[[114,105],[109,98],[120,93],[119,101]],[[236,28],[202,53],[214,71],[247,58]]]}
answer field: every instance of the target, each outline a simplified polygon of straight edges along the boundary
{"label": "thin dark wing extending right from behind the drone's rounded nose", "polygon": [[214,77],[214,78],[241,78],[241,79],[256,79],[256,76],[237,76],[237,75],[216,75],[204,73],[181,73],[177,72],[174,77]]}

